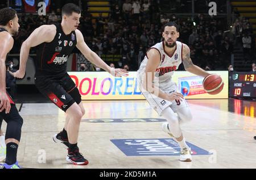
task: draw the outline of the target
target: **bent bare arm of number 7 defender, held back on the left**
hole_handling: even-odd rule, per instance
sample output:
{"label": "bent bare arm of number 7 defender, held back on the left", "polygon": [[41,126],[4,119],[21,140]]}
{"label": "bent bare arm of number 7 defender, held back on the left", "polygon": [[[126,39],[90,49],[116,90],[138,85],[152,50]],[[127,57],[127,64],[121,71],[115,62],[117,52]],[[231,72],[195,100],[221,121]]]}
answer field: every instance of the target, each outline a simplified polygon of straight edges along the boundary
{"label": "bent bare arm of number 7 defender, held back on the left", "polygon": [[51,42],[56,34],[56,26],[43,25],[36,28],[20,48],[19,70],[15,72],[15,77],[23,78],[26,72],[26,64],[31,47],[36,47],[44,42]]}

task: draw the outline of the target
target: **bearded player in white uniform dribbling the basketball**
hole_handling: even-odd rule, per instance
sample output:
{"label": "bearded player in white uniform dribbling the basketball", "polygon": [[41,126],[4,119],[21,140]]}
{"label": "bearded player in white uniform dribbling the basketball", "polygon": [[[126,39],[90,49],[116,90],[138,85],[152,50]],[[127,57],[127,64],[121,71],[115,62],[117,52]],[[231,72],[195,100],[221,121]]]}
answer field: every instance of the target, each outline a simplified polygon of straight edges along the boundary
{"label": "bearded player in white uniform dribbling the basketball", "polygon": [[[190,49],[177,41],[179,27],[173,22],[164,25],[163,41],[148,49],[138,70],[138,80],[144,97],[158,114],[167,119],[162,128],[180,145],[180,161],[192,161],[191,149],[185,142],[180,123],[192,120],[191,111],[183,95],[177,92],[172,75],[183,62],[185,70],[197,76],[209,73],[193,64]],[[175,114],[177,113],[177,115]]]}

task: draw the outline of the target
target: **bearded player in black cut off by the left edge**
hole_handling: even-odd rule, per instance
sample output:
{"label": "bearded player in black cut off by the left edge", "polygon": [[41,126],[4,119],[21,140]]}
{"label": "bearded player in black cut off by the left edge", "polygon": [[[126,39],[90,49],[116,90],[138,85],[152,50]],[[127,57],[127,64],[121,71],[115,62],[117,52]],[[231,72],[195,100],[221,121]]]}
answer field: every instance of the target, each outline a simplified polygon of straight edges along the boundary
{"label": "bearded player in black cut off by the left edge", "polygon": [[19,169],[16,160],[18,145],[21,136],[23,119],[6,91],[6,66],[7,54],[13,48],[14,39],[12,36],[18,34],[19,23],[16,11],[5,8],[0,10],[0,119],[7,123],[5,143],[6,161],[2,168]]}

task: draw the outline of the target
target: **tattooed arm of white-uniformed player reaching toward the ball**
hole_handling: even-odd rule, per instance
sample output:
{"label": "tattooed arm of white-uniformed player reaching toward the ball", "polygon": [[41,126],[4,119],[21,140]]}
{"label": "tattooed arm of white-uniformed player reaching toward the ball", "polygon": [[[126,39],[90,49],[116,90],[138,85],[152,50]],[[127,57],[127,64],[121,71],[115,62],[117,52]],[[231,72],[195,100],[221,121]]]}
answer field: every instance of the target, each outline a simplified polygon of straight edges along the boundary
{"label": "tattooed arm of white-uniformed player reaching toward the ball", "polygon": [[190,49],[186,44],[183,44],[182,58],[183,58],[182,62],[183,62],[184,68],[188,72],[196,74],[197,76],[201,76],[201,77],[207,77],[209,75],[209,73],[207,73],[205,70],[193,64],[190,58]]}

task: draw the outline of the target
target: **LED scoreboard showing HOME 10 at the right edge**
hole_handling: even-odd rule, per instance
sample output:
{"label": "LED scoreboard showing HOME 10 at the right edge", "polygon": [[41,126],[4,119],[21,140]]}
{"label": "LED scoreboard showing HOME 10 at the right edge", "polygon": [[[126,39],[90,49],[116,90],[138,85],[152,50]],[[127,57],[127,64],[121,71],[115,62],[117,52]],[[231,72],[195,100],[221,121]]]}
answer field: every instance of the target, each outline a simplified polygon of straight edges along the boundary
{"label": "LED scoreboard showing HOME 10 at the right edge", "polygon": [[229,74],[230,97],[256,98],[256,72]]}

